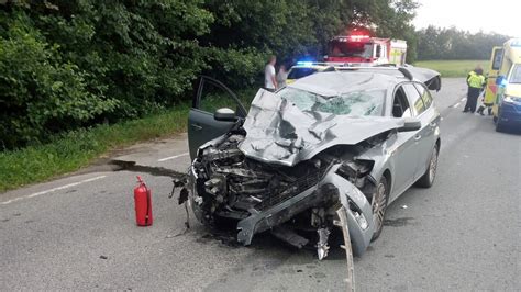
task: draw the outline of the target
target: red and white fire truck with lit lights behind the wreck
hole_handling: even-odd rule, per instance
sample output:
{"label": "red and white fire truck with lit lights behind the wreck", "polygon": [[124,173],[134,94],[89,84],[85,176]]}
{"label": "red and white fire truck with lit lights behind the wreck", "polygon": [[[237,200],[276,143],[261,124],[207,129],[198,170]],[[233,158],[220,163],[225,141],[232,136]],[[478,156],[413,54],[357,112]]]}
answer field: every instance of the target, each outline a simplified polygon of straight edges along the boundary
{"label": "red and white fire truck with lit lights behind the wreck", "polygon": [[340,66],[404,65],[407,42],[352,33],[335,36],[329,43],[324,61]]}

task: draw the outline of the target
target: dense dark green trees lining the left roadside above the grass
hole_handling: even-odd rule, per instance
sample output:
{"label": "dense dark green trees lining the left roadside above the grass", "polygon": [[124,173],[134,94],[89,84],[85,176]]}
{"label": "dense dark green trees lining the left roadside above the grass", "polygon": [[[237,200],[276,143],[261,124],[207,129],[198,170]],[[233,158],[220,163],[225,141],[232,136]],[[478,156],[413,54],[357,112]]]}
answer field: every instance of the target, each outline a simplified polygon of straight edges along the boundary
{"label": "dense dark green trees lining the left roadside above the grass", "polygon": [[319,57],[350,25],[413,41],[415,5],[412,0],[1,0],[0,147],[171,106],[190,96],[201,72],[234,88],[259,85],[269,54],[282,60]]}

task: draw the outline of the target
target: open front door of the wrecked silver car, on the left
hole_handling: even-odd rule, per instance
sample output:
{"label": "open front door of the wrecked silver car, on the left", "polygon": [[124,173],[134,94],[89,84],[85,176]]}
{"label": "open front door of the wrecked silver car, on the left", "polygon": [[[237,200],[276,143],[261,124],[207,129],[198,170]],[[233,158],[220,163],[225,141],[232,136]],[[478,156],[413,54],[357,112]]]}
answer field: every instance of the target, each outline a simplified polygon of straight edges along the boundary
{"label": "open front door of the wrecked silver car, on the left", "polygon": [[[215,112],[224,108],[232,110],[235,119],[220,119],[219,114],[215,116]],[[237,96],[226,86],[211,77],[201,76],[188,114],[190,158],[193,160],[199,146],[230,131],[236,119],[245,117],[246,113]]]}

